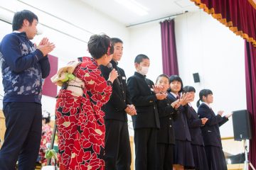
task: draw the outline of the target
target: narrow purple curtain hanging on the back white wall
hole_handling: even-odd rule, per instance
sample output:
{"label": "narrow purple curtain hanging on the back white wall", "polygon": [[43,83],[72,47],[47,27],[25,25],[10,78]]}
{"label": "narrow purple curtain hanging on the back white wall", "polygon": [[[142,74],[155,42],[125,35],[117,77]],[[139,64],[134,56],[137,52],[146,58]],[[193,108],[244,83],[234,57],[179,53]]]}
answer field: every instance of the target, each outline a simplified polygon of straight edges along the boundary
{"label": "narrow purple curtain hanging on the back white wall", "polygon": [[166,20],[161,25],[161,46],[163,59],[163,73],[171,76],[178,75],[178,61],[174,32],[174,20]]}

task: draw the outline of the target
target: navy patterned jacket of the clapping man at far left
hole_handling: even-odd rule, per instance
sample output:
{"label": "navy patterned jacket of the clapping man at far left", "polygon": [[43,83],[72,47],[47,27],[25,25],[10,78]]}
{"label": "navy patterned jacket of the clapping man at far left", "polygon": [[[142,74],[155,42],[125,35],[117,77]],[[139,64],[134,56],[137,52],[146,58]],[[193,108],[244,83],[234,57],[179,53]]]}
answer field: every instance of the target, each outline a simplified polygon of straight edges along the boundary
{"label": "navy patterned jacket of the clapping man at far left", "polygon": [[42,82],[50,73],[50,63],[26,33],[10,33],[3,38],[0,65],[4,102],[41,103]]}

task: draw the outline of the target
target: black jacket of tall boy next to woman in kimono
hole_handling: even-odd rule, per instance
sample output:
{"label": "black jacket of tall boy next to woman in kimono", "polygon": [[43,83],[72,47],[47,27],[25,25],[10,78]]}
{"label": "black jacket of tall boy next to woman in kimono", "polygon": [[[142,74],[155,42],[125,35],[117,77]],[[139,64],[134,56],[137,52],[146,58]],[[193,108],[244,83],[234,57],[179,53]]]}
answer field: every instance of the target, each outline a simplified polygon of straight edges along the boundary
{"label": "black jacket of tall boy next to woman in kimono", "polygon": [[[114,80],[110,101],[102,107],[102,110],[105,112],[105,119],[127,121],[127,113],[124,109],[127,108],[127,104],[131,104],[131,101],[129,92],[127,91],[126,76],[124,70],[117,67],[117,62],[112,60],[111,63],[112,67],[116,69],[119,74],[117,79],[119,79],[120,85],[117,83],[117,80]],[[101,65],[100,70],[107,80],[112,69]]]}

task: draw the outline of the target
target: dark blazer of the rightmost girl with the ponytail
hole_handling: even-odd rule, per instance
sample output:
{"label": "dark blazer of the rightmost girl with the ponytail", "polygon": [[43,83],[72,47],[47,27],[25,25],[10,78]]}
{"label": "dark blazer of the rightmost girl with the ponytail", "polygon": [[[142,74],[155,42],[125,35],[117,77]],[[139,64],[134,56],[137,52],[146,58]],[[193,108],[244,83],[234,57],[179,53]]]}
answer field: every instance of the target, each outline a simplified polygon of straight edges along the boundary
{"label": "dark blazer of the rightmost girl with the ponytail", "polygon": [[201,127],[203,142],[206,146],[222,147],[219,127],[228,121],[228,118],[215,115],[205,103],[198,107],[199,118],[208,118],[206,125]]}

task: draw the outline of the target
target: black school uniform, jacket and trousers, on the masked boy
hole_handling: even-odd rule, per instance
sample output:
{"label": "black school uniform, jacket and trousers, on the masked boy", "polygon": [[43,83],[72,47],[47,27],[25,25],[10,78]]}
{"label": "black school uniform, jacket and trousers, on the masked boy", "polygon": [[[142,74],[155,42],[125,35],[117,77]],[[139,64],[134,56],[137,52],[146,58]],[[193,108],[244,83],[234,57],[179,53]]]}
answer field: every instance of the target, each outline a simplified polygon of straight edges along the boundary
{"label": "black school uniform, jacket and trousers, on the masked boy", "polygon": [[156,169],[156,136],[160,126],[153,85],[153,81],[138,72],[127,80],[129,94],[137,110],[137,115],[132,116],[136,170]]}

